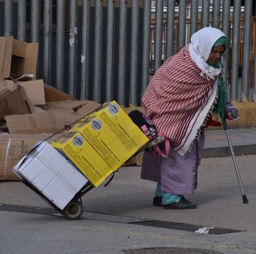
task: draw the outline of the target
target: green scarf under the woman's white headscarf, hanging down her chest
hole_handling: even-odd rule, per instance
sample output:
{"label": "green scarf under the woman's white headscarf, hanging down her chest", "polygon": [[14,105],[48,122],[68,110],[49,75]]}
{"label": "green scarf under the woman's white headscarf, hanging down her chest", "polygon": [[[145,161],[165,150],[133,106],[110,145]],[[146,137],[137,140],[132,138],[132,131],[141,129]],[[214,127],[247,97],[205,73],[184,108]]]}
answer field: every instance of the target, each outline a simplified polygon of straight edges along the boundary
{"label": "green scarf under the woman's white headscarf, hanging down her chest", "polygon": [[[216,47],[218,45],[223,45],[226,50],[228,47],[228,39],[224,36],[217,39],[217,41],[215,41],[215,44],[213,44],[213,47],[211,49],[213,49],[214,47]],[[210,65],[214,68],[219,68],[219,69],[223,68],[221,60],[215,64],[208,63],[208,65]],[[215,108],[213,109],[213,112],[219,113],[221,120],[224,121],[224,115],[225,115],[224,112],[225,112],[225,106],[226,106],[226,88],[224,86],[224,80],[223,80],[222,75],[218,76],[218,89],[219,89],[218,102],[217,102],[217,105],[215,106]]]}

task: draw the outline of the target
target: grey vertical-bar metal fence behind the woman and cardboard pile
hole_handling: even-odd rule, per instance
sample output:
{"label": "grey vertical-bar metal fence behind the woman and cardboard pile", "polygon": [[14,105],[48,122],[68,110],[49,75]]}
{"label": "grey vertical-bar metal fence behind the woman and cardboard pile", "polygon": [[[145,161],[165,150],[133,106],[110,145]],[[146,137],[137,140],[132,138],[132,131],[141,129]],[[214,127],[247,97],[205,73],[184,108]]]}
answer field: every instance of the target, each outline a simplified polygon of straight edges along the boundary
{"label": "grey vertical-bar metal fence behind the woman and cardboard pile", "polygon": [[202,27],[220,28],[230,47],[224,80],[237,102],[255,101],[253,0],[4,0],[0,35],[39,42],[38,79],[78,99],[140,105],[150,75]]}

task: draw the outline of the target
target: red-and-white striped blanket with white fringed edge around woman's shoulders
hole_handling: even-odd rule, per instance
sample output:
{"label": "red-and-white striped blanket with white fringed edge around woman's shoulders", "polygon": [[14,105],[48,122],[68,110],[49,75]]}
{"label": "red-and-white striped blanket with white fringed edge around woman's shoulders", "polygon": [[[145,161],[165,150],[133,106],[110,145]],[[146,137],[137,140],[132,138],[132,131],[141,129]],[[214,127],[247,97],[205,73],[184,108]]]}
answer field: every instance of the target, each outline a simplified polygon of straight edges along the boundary
{"label": "red-and-white striped blanket with white fringed edge around woman's shoulders", "polygon": [[142,97],[142,106],[158,133],[186,156],[216,101],[218,79],[210,80],[197,67],[188,45],[158,69]]}

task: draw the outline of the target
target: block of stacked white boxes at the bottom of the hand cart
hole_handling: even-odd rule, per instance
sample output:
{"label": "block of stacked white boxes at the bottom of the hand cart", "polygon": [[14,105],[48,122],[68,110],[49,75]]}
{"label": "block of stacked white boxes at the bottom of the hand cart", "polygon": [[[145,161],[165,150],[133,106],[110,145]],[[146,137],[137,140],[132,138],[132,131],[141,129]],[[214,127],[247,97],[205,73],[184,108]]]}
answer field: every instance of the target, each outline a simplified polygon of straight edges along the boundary
{"label": "block of stacked white boxes at the bottom of the hand cart", "polygon": [[48,142],[40,142],[13,170],[61,210],[88,179]]}

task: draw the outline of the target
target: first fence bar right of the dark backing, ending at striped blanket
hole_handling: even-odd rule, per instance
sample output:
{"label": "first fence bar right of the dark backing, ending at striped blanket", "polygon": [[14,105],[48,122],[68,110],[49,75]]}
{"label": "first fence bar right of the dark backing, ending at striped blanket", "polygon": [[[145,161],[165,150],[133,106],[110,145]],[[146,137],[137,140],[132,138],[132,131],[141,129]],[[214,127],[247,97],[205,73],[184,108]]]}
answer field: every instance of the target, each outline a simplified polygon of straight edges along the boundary
{"label": "first fence bar right of the dark backing, ending at striped blanket", "polygon": [[162,65],[163,47],[163,0],[156,2],[156,22],[154,38],[154,72]]}

